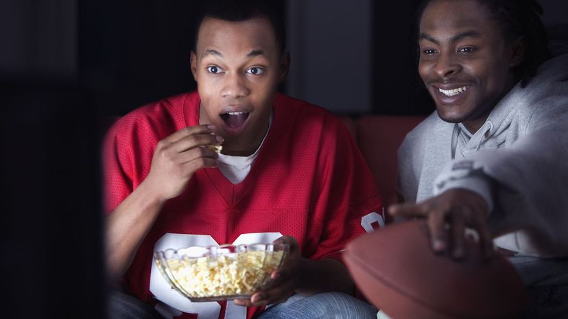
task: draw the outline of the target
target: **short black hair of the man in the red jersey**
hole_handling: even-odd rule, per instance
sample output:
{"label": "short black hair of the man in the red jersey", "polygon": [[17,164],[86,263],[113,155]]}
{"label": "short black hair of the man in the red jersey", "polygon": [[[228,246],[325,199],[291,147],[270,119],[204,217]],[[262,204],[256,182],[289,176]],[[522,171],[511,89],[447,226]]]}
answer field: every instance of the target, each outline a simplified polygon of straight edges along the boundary
{"label": "short black hair of the man in the red jersey", "polygon": [[201,23],[207,17],[224,21],[247,21],[265,18],[270,21],[276,38],[276,45],[283,53],[286,48],[286,31],[283,12],[276,0],[204,0],[198,5],[200,14],[196,21],[193,51],[197,51],[198,34]]}

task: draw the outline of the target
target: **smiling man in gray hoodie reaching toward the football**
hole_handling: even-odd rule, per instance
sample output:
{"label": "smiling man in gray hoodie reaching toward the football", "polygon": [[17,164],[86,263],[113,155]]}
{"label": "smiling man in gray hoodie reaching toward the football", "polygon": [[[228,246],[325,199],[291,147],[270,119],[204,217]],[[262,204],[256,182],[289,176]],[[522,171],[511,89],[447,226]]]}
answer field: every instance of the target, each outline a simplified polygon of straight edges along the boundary
{"label": "smiling man in gray hoodie reaching toward the football", "polygon": [[[533,0],[431,0],[418,71],[436,112],[399,150],[389,212],[427,217],[431,246],[466,255],[464,231],[493,244],[532,297],[534,318],[568,311],[568,55],[548,59]],[[449,227],[448,227],[449,226]]]}

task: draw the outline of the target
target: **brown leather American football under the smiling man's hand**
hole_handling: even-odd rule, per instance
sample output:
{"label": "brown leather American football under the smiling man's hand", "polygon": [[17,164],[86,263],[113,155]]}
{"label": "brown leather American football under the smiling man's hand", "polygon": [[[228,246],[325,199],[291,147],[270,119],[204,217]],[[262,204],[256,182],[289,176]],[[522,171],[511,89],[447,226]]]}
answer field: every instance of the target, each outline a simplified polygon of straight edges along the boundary
{"label": "brown leather American football under the smiling man's hand", "polygon": [[344,261],[370,303],[392,319],[516,318],[527,303],[505,257],[484,260],[469,239],[460,261],[436,255],[425,220],[386,226],[353,240]]}

